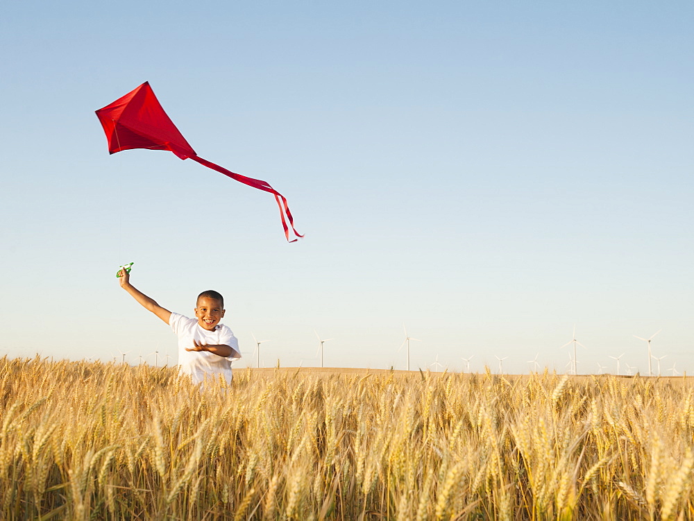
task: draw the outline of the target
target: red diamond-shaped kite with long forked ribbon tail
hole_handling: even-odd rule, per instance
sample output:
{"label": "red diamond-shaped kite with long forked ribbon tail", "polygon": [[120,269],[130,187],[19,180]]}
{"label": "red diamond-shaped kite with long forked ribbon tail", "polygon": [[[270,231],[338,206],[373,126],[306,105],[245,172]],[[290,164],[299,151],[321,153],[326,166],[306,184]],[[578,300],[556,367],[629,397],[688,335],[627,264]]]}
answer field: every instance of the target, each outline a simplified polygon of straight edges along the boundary
{"label": "red diamond-shaped kite with long forked ribbon tail", "polygon": [[[178,155],[180,159],[192,159],[200,164],[208,166],[212,170],[223,173],[232,179],[244,183],[259,190],[269,191],[275,196],[278,207],[280,207],[280,217],[282,227],[285,228],[285,237],[289,241],[289,226],[296,237],[303,237],[294,229],[294,219],[289,212],[287,199],[282,194],[273,189],[265,181],[247,178],[238,173],[233,173],[221,166],[204,160],[188,144],[185,137],[178,131],[174,122],[171,121],[167,113],[164,112],[157,97],[154,95],[149,82],[142,85],[132,92],[128,92],[122,98],[117,99],[110,105],[96,111],[96,117],[101,121],[103,131],[108,139],[108,152],[115,154],[121,150],[131,148],[149,148],[150,150],[168,150]],[[280,202],[281,201],[281,202]],[[286,219],[285,219],[286,214]],[[292,239],[289,242],[294,242]]]}

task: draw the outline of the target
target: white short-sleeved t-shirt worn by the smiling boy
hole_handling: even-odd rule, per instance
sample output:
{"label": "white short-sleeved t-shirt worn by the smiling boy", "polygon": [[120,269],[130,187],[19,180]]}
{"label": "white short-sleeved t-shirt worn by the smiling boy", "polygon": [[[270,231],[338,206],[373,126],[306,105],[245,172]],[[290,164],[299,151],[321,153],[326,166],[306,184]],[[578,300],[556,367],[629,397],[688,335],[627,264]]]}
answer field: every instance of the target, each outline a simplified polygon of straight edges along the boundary
{"label": "white short-sleeved t-shirt worn by the smiling boy", "polygon": [[[214,331],[205,330],[198,324],[196,318],[171,313],[169,325],[178,336],[178,368],[180,373],[191,375],[193,382],[198,384],[205,379],[205,375],[216,377],[224,375],[227,382],[231,383],[231,363],[241,358],[239,341],[232,331],[223,324],[217,324]],[[212,345],[228,345],[238,355],[220,357],[209,351],[186,351],[193,348],[194,340]]]}

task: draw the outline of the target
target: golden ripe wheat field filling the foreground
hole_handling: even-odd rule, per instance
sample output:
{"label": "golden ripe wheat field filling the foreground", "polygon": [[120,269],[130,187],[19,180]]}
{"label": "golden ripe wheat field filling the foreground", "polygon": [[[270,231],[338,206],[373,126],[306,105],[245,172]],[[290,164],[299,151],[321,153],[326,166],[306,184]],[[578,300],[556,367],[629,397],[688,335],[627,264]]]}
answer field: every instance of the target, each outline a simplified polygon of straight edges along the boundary
{"label": "golden ripe wheat field filling the foreground", "polygon": [[0,518],[692,519],[689,379],[0,359]]}

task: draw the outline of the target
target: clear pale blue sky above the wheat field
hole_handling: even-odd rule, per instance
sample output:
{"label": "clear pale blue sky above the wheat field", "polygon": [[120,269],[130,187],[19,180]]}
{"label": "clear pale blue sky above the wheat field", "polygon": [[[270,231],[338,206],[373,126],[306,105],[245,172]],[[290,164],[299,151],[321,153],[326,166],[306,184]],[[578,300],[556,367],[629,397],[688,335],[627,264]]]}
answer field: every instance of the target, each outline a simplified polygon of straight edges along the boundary
{"label": "clear pale blue sky above the wheat field", "polygon": [[[691,2],[12,2],[0,18],[0,353],[175,356],[227,299],[255,364],[694,371]],[[201,157],[108,155],[149,80]],[[146,358],[153,363],[153,356]],[[655,365],[654,365],[655,367]]]}

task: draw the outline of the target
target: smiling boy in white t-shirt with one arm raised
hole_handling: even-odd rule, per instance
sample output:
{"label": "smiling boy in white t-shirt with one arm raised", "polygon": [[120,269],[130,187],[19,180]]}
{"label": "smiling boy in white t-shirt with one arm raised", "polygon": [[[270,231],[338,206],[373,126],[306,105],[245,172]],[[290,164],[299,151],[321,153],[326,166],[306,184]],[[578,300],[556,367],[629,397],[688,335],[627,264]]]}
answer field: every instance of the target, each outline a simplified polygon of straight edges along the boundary
{"label": "smiling boy in white t-shirt with one arm raised", "polygon": [[190,375],[193,382],[203,382],[205,375],[223,375],[231,383],[231,363],[241,358],[239,341],[231,330],[219,323],[224,316],[224,299],[217,291],[198,295],[196,318],[171,313],[130,284],[130,273],[118,272],[121,287],[162,321],[171,325],[178,336],[178,366],[180,373]]}

